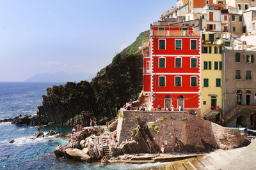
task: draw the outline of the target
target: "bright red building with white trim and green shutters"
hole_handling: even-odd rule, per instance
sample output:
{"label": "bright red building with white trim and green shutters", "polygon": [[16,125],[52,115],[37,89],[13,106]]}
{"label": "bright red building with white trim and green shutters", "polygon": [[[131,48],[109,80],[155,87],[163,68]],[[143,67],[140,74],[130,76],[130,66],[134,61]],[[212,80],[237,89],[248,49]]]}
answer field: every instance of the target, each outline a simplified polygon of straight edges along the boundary
{"label": "bright red building with white trim and green shutters", "polygon": [[151,110],[179,106],[200,112],[200,31],[150,27],[150,56],[144,57],[143,92]]}

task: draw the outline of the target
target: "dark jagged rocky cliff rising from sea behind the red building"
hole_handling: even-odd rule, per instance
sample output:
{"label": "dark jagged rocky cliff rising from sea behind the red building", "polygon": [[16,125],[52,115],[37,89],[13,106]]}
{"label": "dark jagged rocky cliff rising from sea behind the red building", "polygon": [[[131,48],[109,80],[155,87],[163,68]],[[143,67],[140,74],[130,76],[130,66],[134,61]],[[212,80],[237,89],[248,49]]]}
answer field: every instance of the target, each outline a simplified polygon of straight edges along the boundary
{"label": "dark jagged rocky cliff rising from sea behind the red building", "polygon": [[[132,44],[133,48],[138,49],[138,45],[147,39],[141,36],[148,36],[147,33],[140,34]],[[142,67],[141,52],[118,53],[91,83],[68,82],[65,86],[48,88],[36,116],[16,117],[11,122],[19,125],[88,125],[90,118],[97,118],[98,125],[104,124],[116,117],[117,111],[130,98],[138,98],[143,84]]]}

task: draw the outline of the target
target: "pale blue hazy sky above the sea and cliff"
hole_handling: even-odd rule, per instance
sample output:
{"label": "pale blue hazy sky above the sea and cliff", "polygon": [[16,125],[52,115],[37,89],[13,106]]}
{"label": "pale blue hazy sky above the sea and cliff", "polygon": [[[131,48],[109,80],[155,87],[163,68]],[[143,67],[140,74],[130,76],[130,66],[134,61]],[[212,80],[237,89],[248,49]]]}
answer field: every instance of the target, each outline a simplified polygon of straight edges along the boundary
{"label": "pale blue hazy sky above the sea and cliff", "polygon": [[0,81],[97,73],[173,0],[0,0]]}

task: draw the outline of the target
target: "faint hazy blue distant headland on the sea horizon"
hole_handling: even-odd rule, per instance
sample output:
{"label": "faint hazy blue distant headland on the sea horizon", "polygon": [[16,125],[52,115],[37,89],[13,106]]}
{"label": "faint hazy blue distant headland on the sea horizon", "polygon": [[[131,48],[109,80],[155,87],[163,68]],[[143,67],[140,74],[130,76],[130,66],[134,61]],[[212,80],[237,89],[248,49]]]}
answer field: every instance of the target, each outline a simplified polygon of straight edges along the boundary
{"label": "faint hazy blue distant headland on the sea horizon", "polygon": [[31,78],[25,80],[26,82],[67,82],[67,81],[91,81],[92,78],[95,77],[93,73],[66,73],[66,72],[58,72],[58,73],[42,73],[35,74]]}

